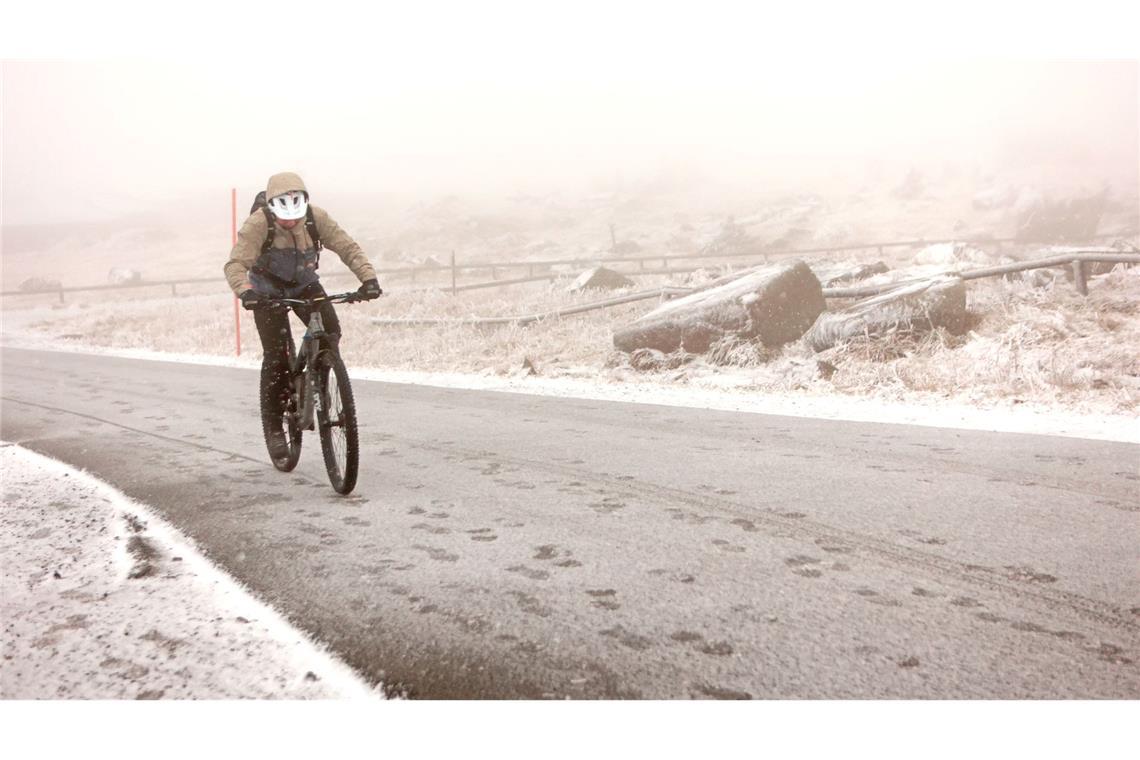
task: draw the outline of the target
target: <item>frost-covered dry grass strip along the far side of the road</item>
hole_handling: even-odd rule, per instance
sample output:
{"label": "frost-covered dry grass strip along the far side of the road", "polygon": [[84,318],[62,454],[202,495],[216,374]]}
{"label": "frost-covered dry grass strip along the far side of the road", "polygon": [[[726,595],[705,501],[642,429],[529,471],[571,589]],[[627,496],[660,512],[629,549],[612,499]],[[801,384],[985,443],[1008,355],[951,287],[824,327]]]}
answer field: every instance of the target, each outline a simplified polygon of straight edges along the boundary
{"label": "frost-covered dry grass strip along the far side of the road", "polygon": [[[1056,270],[1047,270],[1056,272]],[[636,289],[689,285],[719,271],[645,276]],[[378,302],[337,309],[342,348],[356,368],[512,376],[524,361],[543,377],[600,383],[650,379],[740,392],[807,392],[889,401],[950,399],[966,402],[1032,402],[1073,410],[1134,414],[1140,407],[1140,269],[1117,267],[1090,280],[1088,297],[1056,272],[1044,284],[991,278],[968,283],[972,329],[858,338],[821,353],[803,341],[780,349],[726,343],[670,369],[638,371],[613,351],[612,333],[648,312],[654,301],[548,319],[527,327],[447,325],[376,326],[373,317],[455,319],[529,314],[578,305],[611,295],[572,294],[569,279],[456,296],[408,283],[383,283]],[[329,291],[347,288],[334,280]],[[30,330],[63,342],[119,349],[230,356],[233,299],[212,293],[177,297],[83,299],[65,307],[6,312],[5,332]],[[839,302],[830,302],[832,309]],[[260,344],[252,316],[241,312],[245,353]],[[9,324],[13,327],[9,327]],[[26,327],[24,327],[26,326]],[[302,330],[294,320],[296,333]],[[527,370],[529,371],[529,370]]]}

